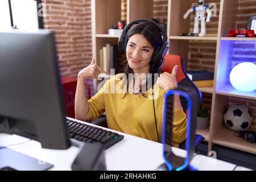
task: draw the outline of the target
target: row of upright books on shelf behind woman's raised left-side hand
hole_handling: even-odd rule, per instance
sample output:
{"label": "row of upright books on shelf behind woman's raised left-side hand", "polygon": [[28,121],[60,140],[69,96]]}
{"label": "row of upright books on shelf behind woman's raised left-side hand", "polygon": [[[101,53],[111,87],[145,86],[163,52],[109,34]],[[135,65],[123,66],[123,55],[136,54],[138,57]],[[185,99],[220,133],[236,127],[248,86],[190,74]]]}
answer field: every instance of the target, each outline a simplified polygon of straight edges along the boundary
{"label": "row of upright books on shelf behind woman's raised left-side hand", "polygon": [[98,55],[98,65],[104,69],[104,71],[110,74],[110,69],[115,69],[115,74],[120,72],[120,57],[121,53],[118,51],[118,46],[112,46],[110,44],[106,44],[106,46],[102,47],[99,50]]}

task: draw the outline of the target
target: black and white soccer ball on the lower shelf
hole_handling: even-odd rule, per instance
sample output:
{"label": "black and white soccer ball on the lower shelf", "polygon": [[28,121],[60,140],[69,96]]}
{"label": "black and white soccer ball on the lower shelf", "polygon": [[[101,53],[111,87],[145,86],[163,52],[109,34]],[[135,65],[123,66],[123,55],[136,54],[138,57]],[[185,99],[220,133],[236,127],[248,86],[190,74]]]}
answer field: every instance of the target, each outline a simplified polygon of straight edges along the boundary
{"label": "black and white soccer ball on the lower shelf", "polygon": [[224,112],[226,126],[234,131],[243,131],[250,127],[253,117],[246,106],[229,106]]}

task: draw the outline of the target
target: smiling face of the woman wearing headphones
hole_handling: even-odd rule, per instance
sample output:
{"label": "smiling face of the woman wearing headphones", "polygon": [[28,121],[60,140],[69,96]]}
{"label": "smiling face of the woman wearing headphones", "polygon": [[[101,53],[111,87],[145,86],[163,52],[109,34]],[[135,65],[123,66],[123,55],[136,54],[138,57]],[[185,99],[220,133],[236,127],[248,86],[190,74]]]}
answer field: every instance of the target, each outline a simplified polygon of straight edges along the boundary
{"label": "smiling face of the woman wearing headphones", "polygon": [[126,58],[134,73],[150,73],[150,60],[154,48],[141,34],[134,34],[129,38],[126,46]]}

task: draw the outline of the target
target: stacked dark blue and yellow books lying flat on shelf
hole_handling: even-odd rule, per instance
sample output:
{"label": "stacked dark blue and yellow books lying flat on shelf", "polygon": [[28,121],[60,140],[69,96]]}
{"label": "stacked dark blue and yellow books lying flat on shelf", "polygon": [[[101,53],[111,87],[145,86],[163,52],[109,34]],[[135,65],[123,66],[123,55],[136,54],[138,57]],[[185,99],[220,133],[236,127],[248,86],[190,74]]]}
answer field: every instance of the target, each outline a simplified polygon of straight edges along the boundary
{"label": "stacked dark blue and yellow books lying flat on shelf", "polygon": [[213,86],[214,73],[209,71],[188,71],[188,77],[197,87]]}

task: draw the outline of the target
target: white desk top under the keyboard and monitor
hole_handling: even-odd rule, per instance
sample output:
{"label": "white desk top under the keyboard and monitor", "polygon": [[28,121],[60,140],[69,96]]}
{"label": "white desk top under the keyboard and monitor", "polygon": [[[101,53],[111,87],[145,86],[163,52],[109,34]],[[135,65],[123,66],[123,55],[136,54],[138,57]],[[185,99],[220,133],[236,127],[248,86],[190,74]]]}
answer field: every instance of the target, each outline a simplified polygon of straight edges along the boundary
{"label": "white desk top under the keyboard and monitor", "polygon": [[[92,125],[88,123],[88,125]],[[97,126],[98,127],[98,126]],[[116,131],[115,131],[116,132]],[[150,140],[134,137],[124,133],[119,134],[125,137],[120,142],[109,147],[105,151],[106,168],[108,170],[141,170],[154,171],[164,162],[162,156],[162,144]],[[26,142],[29,139],[18,135],[0,134],[0,145]],[[71,170],[71,164],[79,153],[79,148],[70,147],[68,150],[43,149],[39,142],[31,140],[24,144],[10,146],[10,149],[21,152],[33,158],[51,163],[54,165],[50,170]],[[172,147],[174,153],[185,156],[186,151]],[[1,149],[0,149],[1,150]],[[204,155],[196,155],[191,165],[199,170],[233,170],[236,165],[221,160],[212,159]],[[236,169],[246,170],[247,168],[237,167]]]}

